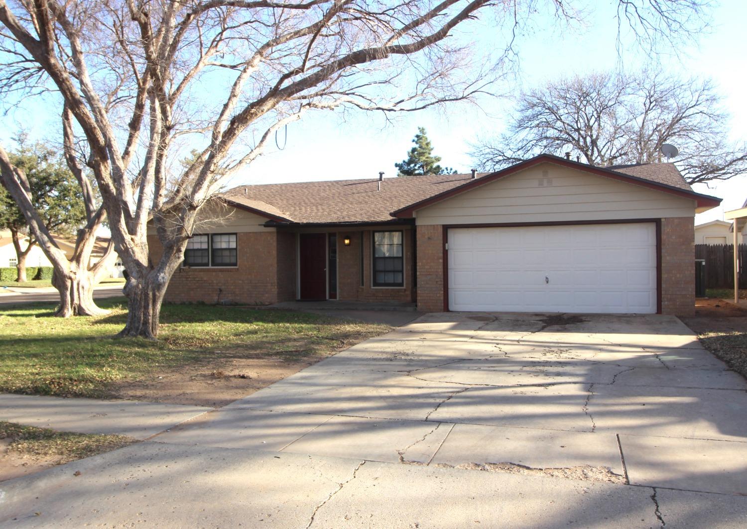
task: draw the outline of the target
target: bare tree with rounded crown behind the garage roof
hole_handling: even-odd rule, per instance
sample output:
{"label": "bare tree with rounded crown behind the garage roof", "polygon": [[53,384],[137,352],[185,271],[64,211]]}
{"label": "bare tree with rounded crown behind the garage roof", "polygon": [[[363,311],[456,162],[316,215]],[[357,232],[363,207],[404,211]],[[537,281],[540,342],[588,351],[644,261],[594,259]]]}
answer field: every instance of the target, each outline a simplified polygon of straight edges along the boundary
{"label": "bare tree with rounded crown behind the garage roof", "polygon": [[728,116],[710,81],[662,72],[593,73],[523,93],[509,130],[478,140],[472,156],[492,170],[542,152],[574,151],[595,166],[662,161],[673,143],[675,163],[690,184],[747,171],[747,145],[728,143]]}

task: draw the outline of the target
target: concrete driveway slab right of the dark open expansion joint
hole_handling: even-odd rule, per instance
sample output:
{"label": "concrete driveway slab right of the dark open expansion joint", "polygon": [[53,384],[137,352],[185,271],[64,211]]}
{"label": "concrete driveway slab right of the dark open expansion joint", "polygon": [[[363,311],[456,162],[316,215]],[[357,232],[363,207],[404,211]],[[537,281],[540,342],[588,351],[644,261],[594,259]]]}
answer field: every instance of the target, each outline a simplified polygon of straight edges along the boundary
{"label": "concrete driveway slab right of the dark open expansion joint", "polygon": [[620,445],[632,484],[747,496],[747,442],[621,435]]}

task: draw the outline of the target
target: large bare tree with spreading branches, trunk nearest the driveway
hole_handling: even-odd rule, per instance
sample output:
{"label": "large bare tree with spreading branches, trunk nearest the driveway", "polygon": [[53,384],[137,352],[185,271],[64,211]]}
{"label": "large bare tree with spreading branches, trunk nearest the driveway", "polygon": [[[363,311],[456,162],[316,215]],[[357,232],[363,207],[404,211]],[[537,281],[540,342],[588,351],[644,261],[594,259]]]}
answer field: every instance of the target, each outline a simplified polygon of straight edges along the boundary
{"label": "large bare tree with spreading branches, trunk nearest the driveway", "polygon": [[[651,35],[659,30],[646,17],[692,29],[700,3],[621,1]],[[53,90],[63,101],[76,135],[68,144],[84,140],[78,163],[96,178],[129,273],[121,335],[152,338],[199,210],[275,131],[310,110],[470,101],[500,64],[454,28],[484,13],[510,30],[538,4],[560,19],[575,13],[560,0],[0,0],[0,90]],[[197,155],[179,169],[185,144]],[[22,198],[22,178],[12,169],[3,178]]]}

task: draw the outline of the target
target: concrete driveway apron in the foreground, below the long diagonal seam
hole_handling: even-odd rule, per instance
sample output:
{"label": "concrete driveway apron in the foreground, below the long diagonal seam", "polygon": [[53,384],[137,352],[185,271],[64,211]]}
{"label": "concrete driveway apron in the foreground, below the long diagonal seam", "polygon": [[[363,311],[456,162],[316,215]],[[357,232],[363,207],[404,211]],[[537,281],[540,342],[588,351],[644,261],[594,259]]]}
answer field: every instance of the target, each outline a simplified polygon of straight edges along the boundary
{"label": "concrete driveway apron in the foreground, below the long diagonal seam", "polygon": [[[747,498],[145,442],[0,483],[13,528],[739,528]],[[703,508],[707,506],[707,508]]]}

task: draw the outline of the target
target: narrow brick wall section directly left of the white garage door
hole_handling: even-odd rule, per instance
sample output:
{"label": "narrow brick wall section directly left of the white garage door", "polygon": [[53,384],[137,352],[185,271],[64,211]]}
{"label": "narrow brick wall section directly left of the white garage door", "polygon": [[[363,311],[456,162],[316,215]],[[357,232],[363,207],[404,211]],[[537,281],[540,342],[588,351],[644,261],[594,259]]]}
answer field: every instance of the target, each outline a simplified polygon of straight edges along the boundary
{"label": "narrow brick wall section directly left of the white garage door", "polygon": [[444,233],[441,225],[418,225],[418,310],[444,310]]}

